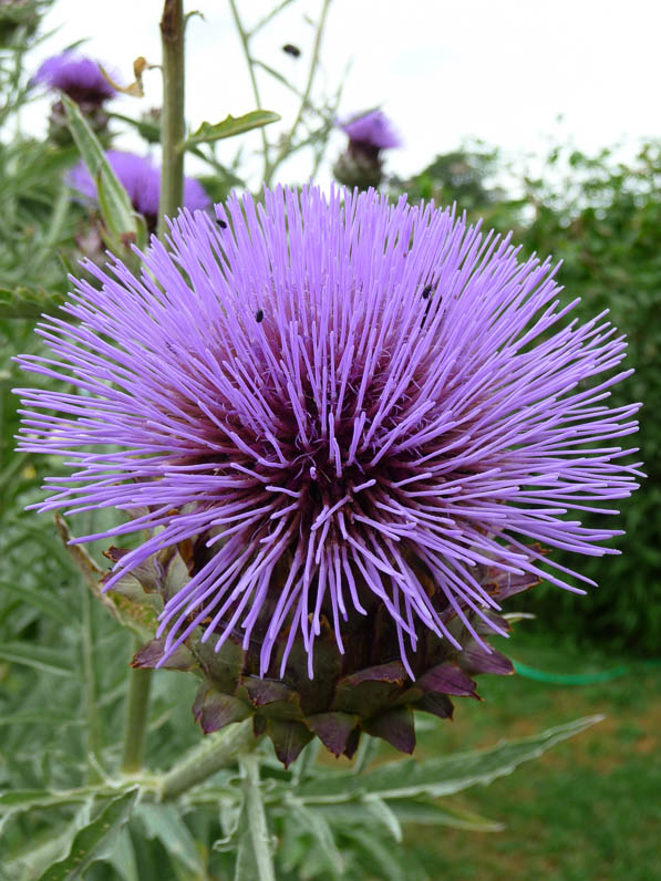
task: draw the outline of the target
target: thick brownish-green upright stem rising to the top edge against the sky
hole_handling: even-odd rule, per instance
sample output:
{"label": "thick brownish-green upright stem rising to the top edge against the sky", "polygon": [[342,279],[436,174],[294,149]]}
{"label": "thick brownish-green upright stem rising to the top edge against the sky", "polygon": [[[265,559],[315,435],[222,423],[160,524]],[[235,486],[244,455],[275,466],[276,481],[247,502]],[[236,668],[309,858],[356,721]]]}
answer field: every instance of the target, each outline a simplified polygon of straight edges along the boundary
{"label": "thick brownish-green upright stem rising to the top edge against the sky", "polygon": [[166,217],[174,217],[182,205],[184,191],[184,151],[186,134],[184,116],[185,58],[183,0],[165,0],[161,19],[163,46],[163,110],[161,113],[161,201],[158,205],[158,238],[163,239]]}

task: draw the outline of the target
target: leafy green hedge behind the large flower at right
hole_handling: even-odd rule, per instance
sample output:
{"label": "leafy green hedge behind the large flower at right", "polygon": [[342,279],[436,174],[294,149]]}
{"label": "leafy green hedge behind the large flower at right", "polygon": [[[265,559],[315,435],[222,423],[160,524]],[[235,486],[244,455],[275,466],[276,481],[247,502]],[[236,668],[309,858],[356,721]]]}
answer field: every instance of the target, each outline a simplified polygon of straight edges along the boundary
{"label": "leafy green hedge behind the large flower at right", "polygon": [[[613,390],[613,406],[642,401],[641,428],[623,443],[640,446],[648,475],[621,502],[622,554],[565,556],[561,562],[599,583],[588,598],[543,585],[521,603],[538,614],[535,628],[613,650],[659,654],[661,646],[661,144],[644,145],[629,164],[610,151],[588,157],[557,148],[541,178],[519,177],[523,197],[489,186],[505,170],[498,154],[478,146],[440,156],[421,175],[399,184],[414,196],[457,200],[473,216],[506,231],[526,252],[550,253],[564,266],[567,298],[581,298],[575,314],[610,310],[629,341],[636,373]],[[509,169],[510,179],[512,169]]]}

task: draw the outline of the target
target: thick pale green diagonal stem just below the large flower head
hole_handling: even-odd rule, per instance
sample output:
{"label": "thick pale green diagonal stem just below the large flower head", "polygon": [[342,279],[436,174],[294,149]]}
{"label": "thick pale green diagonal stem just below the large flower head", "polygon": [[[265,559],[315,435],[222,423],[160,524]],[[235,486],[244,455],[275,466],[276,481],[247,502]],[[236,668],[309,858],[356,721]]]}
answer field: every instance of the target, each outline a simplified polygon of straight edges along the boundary
{"label": "thick pale green diagonal stem just below the large flower head", "polygon": [[171,801],[233,761],[238,753],[256,745],[252,721],[228,725],[217,734],[209,734],[193,747],[163,778],[161,801]]}

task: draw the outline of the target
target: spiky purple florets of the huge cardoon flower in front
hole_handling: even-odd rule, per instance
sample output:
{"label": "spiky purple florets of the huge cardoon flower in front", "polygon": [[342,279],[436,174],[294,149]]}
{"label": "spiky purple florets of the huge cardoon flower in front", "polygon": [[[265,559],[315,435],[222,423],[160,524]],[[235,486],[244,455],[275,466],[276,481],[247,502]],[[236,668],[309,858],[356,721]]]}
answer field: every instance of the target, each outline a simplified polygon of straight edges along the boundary
{"label": "spiky purple florets of the huge cardoon flower in front", "polygon": [[[618,438],[638,405],[606,403],[626,344],[603,313],[565,321],[548,260],[374,193],[278,188],[217,217],[182,211],[140,279],[87,263],[99,289],[78,281],[69,320],[39,325],[52,357],[20,357],[65,383],[20,390],[20,448],[76,469],[40,509],[133,515],[76,541],[158,528],[106,588],[190,548],[161,661],[200,628],[216,651],[257,644],[259,675],[300,640],[311,671],[316,643],[371,652],[390,622],[414,678],[428,633],[475,659],[515,582],[577,590],[543,548],[616,552],[580,517],[637,486]],[[435,688],[468,693],[443,670]]]}

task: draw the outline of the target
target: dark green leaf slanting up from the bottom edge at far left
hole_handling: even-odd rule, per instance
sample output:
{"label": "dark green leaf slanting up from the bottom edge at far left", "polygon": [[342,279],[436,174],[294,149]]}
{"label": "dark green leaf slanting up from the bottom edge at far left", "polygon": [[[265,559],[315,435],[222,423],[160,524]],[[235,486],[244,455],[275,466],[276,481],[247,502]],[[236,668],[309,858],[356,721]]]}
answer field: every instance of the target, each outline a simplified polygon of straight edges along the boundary
{"label": "dark green leaf slanting up from the bottom edge at far left", "polygon": [[101,815],[81,829],[71,844],[69,856],[51,866],[39,881],[74,881],[96,860],[105,857],[107,848],[131,817],[138,789],[113,799]]}

